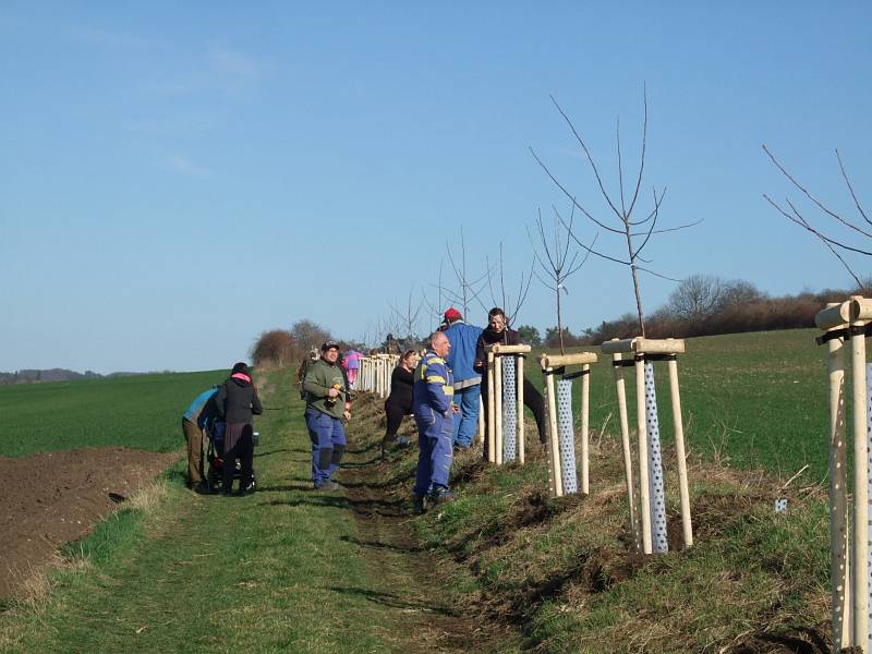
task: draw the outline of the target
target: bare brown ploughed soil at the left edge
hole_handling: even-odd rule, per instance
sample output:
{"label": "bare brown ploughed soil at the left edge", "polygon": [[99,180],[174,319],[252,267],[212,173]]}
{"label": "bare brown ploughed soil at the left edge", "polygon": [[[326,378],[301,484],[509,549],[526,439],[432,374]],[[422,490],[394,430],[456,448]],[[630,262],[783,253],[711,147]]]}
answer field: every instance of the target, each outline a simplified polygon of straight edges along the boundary
{"label": "bare brown ploughed soil at the left edge", "polygon": [[0,597],[177,458],[123,447],[0,457]]}

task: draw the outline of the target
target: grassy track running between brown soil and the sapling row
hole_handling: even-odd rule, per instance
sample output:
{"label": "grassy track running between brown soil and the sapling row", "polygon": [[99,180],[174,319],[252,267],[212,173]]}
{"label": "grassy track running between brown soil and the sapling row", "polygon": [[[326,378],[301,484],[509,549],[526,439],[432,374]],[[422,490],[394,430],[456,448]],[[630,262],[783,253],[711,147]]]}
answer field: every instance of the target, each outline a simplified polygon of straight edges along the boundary
{"label": "grassy track running between brown soil and the sapling row", "polygon": [[[352,441],[343,486],[315,493],[289,374],[270,378],[264,403],[258,493],[197,496],[177,467],[152,508],[116,513],[71,548],[78,565],[48,595],[0,608],[0,650],[514,650],[450,605],[447,564],[415,546],[405,498],[374,474],[386,470],[375,448]],[[376,425],[374,407],[360,428]]]}

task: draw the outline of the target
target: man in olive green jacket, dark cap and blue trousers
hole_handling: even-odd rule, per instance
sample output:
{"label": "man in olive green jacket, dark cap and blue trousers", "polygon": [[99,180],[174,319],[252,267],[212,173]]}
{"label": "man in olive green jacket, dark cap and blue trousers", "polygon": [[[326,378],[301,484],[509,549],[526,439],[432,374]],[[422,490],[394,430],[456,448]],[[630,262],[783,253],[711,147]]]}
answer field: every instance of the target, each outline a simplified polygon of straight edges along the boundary
{"label": "man in olive green jacket, dark cap and blue trousers", "polygon": [[320,347],[320,359],[308,366],[303,379],[306,393],[305,420],[312,441],[312,483],[316,491],[334,491],[332,474],[346,451],[342,420],[351,419],[339,359],[339,343],[328,340]]}

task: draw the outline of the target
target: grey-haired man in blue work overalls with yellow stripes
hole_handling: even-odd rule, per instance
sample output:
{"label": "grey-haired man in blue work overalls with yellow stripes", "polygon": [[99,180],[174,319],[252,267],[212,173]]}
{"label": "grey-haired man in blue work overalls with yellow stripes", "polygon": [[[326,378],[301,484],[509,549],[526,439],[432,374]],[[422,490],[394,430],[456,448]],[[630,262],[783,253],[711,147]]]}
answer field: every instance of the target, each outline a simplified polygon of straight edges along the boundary
{"label": "grey-haired man in blue work overalls with yellow stripes", "polygon": [[429,338],[429,349],[415,368],[412,412],[417,424],[417,471],[415,473],[415,512],[423,513],[427,501],[441,504],[455,496],[448,488],[453,461],[451,439],[457,407],[455,378],[445,362],[451,342],[441,331]]}

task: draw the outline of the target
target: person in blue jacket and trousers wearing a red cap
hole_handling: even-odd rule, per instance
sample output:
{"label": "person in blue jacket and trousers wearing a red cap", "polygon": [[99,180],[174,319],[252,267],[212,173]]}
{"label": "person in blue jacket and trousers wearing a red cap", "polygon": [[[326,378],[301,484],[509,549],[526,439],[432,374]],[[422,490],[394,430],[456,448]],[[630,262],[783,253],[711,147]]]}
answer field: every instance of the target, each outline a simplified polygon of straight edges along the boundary
{"label": "person in blue jacket and trousers wearing a red cap", "polygon": [[482,335],[481,327],[467,325],[463,315],[453,306],[445,312],[447,327],[444,334],[451,343],[448,367],[455,375],[455,403],[460,412],[455,416],[452,443],[458,449],[469,449],[479,428],[479,402],[482,397],[482,376],[473,370],[475,343]]}

